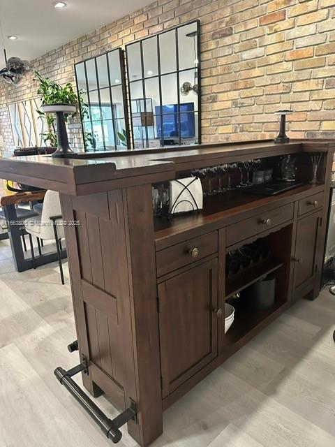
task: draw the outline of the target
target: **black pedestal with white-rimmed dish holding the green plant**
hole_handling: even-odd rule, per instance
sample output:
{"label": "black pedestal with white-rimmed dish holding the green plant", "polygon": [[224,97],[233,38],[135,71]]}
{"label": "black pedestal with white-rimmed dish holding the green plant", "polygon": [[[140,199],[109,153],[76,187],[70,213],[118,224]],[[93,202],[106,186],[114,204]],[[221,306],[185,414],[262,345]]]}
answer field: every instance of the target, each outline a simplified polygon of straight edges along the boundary
{"label": "black pedestal with white-rimmed dish holding the green plant", "polygon": [[57,151],[52,156],[66,157],[73,154],[73,151],[68,145],[68,133],[66,131],[64,113],[75,113],[75,105],[69,104],[51,104],[43,105],[42,111],[44,113],[55,113],[57,124]]}

